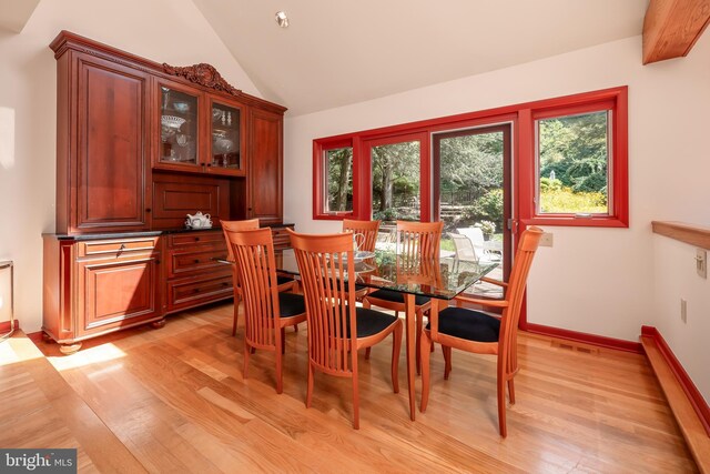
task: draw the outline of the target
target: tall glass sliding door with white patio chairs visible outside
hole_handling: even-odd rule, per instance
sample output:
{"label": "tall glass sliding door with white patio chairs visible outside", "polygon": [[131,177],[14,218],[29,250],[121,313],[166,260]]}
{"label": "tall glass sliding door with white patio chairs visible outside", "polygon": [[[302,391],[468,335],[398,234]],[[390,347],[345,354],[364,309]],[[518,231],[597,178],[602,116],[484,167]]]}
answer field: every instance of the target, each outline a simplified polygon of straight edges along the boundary
{"label": "tall glass sliding door with white patio chairs visible outside", "polygon": [[[433,135],[434,211],[444,221],[443,249],[460,260],[499,262],[493,278],[510,271],[510,124]],[[491,297],[495,285],[469,289]]]}

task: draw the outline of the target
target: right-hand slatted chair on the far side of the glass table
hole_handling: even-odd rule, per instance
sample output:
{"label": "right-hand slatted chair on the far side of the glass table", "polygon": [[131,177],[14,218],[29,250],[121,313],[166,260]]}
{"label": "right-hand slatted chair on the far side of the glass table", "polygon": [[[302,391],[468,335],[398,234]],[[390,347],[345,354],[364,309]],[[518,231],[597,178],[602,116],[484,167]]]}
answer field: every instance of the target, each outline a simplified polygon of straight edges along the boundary
{"label": "right-hand slatted chair on the far side of the glass table", "polygon": [[[414,259],[436,259],[439,258],[442,231],[444,222],[409,222],[397,221],[396,245],[397,258],[402,261]],[[392,290],[376,290],[369,292],[363,299],[363,306],[372,305],[385,307],[399,314],[405,311],[404,295],[400,292]],[[417,373],[420,372],[419,355],[419,337],[422,326],[424,325],[424,313],[429,310],[432,299],[428,296],[416,295],[414,300],[414,309],[416,314],[416,365]],[[366,354],[367,356],[369,354]]]}

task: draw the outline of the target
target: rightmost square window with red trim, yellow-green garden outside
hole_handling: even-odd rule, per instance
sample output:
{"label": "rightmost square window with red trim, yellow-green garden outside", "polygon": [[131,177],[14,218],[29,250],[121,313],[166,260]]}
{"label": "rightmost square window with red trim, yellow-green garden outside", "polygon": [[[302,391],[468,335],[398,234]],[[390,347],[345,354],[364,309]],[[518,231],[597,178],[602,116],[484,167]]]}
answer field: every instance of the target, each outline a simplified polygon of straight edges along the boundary
{"label": "rightmost square window with red trim, yellow-green garden outside", "polygon": [[521,127],[532,130],[521,147],[532,151],[520,170],[531,184],[520,195],[525,224],[628,226],[626,92],[560,98],[526,111]]}

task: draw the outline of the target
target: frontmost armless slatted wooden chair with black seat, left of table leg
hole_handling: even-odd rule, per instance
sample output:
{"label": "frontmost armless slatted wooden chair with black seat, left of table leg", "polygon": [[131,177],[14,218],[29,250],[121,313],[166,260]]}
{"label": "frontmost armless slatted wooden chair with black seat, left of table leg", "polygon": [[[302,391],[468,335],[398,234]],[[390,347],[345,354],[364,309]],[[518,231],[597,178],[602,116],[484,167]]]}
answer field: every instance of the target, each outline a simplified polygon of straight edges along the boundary
{"label": "frontmost armless slatted wooden chair with black seat, left of table leg", "polygon": [[393,334],[392,384],[399,392],[402,321],[355,304],[355,260],[349,234],[305,235],[291,231],[308,321],[308,385],[311,406],[315,371],[353,382],[353,427],[359,428],[357,351]]}

